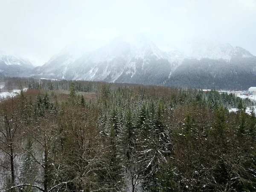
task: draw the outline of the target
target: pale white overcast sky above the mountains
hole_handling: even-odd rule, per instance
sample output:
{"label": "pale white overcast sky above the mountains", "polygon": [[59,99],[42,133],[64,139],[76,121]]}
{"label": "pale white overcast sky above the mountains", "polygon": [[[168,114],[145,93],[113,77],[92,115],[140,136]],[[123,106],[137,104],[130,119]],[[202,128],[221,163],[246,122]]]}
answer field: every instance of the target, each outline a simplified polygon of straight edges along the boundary
{"label": "pale white overcast sky above the mountains", "polygon": [[74,42],[91,50],[124,32],[177,47],[204,38],[256,55],[256,0],[0,0],[0,50],[37,65]]}

